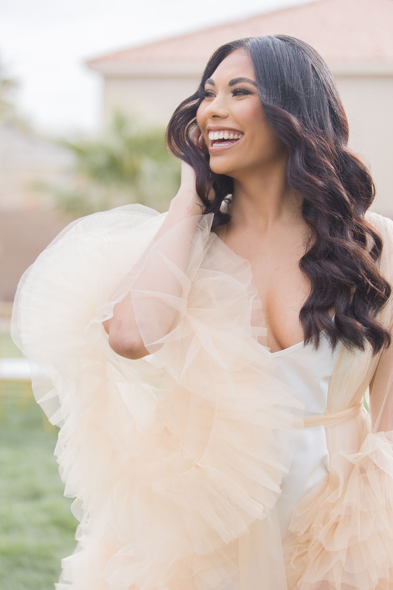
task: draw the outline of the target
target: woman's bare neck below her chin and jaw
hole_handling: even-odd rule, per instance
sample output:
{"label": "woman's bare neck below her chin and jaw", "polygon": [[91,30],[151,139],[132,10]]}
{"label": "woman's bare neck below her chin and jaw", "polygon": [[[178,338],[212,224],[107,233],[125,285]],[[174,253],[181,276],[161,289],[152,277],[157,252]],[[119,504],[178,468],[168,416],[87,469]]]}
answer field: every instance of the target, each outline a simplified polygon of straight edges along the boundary
{"label": "woman's bare neck below her chin and jaw", "polygon": [[268,169],[247,171],[233,179],[231,225],[266,231],[279,222],[299,216],[302,197],[289,186],[287,162],[277,162]]}

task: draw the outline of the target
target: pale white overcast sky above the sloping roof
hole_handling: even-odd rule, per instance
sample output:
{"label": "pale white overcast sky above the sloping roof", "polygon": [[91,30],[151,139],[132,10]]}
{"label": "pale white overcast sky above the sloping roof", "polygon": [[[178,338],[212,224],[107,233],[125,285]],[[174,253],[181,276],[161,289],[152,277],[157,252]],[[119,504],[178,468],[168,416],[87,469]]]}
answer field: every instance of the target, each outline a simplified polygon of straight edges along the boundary
{"label": "pale white overcast sky above the sloping roof", "polygon": [[101,78],[85,60],[305,1],[0,0],[0,63],[37,129],[94,133]]}

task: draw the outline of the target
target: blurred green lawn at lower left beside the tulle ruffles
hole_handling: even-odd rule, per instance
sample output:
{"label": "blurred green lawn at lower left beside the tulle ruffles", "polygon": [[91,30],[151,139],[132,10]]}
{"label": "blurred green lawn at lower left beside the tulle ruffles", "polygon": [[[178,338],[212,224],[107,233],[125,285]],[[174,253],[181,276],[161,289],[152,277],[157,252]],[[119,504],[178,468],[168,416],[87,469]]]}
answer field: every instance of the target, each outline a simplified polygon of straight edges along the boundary
{"label": "blurred green lawn at lower left beside the tulle ruffles", "polygon": [[[8,338],[0,344],[17,356]],[[30,386],[0,385],[0,588],[53,590],[77,526],[53,455],[58,429]]]}

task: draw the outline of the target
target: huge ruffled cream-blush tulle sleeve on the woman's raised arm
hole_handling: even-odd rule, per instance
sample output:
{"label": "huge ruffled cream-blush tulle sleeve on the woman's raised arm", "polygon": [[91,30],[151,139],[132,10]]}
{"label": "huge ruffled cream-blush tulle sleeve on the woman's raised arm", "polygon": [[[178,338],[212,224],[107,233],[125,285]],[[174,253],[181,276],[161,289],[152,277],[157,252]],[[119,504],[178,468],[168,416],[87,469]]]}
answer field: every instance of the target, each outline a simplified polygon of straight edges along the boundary
{"label": "huge ruffled cream-blush tulle sleeve on the woman's raised arm", "polygon": [[[258,344],[250,264],[212,214],[163,231],[165,219],[129,205],[78,220],[18,287],[12,337],[47,371],[34,392],[61,426],[80,520],[58,590],[249,590],[237,543],[290,464],[302,408]],[[109,346],[102,322],[123,297],[145,358]],[[266,549],[282,560],[276,529]]]}

